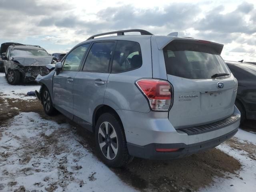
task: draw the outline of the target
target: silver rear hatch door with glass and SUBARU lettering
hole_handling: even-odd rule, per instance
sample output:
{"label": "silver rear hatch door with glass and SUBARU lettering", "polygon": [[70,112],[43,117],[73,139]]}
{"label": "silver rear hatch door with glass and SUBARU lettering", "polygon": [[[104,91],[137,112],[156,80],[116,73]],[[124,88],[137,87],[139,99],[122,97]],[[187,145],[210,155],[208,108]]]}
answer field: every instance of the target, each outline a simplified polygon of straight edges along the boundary
{"label": "silver rear hatch door with glass and SUBARU lettering", "polygon": [[233,114],[237,81],[219,50],[216,44],[195,40],[173,40],[164,47],[167,79],[174,90],[169,111],[174,128],[208,124]]}

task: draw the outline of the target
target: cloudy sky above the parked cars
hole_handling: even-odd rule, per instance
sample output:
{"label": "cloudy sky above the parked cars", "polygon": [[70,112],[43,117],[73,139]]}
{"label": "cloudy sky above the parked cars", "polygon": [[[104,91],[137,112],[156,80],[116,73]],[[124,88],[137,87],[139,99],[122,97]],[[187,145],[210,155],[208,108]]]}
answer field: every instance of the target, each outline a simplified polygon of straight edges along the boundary
{"label": "cloudy sky above the parked cars", "polygon": [[67,52],[89,36],[141,28],[224,44],[226,60],[256,61],[255,0],[0,0],[0,42]]}

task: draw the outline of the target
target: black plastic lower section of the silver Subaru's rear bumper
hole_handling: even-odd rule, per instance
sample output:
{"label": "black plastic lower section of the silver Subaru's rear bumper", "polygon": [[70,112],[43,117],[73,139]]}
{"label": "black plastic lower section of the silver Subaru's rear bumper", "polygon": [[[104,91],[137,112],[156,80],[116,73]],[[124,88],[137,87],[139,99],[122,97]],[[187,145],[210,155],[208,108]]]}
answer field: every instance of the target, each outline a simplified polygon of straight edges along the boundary
{"label": "black plastic lower section of the silver Subaru's rear bumper", "polygon": [[[214,138],[211,140],[190,144],[190,145],[186,145],[184,143],[176,143],[176,144],[152,143],[145,146],[138,146],[131,143],[127,143],[127,147],[130,155],[135,157],[155,159],[155,160],[182,158],[182,157],[189,156],[191,154],[195,154],[197,152],[202,152],[210,148],[214,148],[219,144],[221,144],[222,142],[224,142],[225,140],[234,136],[234,134],[236,134],[237,131],[238,131],[238,128],[218,138]],[[176,152],[157,152],[156,148],[161,148],[161,149],[179,148],[179,150]]]}

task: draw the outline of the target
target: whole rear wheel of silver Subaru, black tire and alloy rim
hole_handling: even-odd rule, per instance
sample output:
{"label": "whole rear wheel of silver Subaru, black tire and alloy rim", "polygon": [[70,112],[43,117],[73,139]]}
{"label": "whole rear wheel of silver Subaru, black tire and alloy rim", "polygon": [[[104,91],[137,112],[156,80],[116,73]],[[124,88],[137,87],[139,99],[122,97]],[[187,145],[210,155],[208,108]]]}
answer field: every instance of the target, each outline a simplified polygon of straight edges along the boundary
{"label": "whole rear wheel of silver Subaru, black tire and alloy rim", "polygon": [[96,148],[100,158],[110,167],[122,167],[132,161],[122,123],[111,113],[102,114],[95,129]]}

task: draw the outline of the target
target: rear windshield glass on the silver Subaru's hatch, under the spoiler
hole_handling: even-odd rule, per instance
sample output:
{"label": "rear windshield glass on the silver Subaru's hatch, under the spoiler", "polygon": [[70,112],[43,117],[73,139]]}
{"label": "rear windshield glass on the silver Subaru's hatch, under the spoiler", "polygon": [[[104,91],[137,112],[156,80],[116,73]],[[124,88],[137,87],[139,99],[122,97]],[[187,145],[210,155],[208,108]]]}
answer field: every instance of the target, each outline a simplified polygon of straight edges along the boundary
{"label": "rear windshield glass on the silver Subaru's hatch, under the spoiler", "polygon": [[164,48],[164,60],[167,74],[178,77],[210,79],[217,73],[230,74],[221,56],[204,44],[171,42]]}

